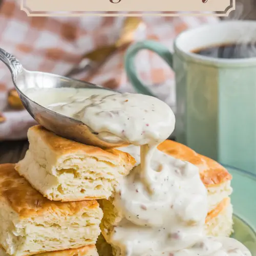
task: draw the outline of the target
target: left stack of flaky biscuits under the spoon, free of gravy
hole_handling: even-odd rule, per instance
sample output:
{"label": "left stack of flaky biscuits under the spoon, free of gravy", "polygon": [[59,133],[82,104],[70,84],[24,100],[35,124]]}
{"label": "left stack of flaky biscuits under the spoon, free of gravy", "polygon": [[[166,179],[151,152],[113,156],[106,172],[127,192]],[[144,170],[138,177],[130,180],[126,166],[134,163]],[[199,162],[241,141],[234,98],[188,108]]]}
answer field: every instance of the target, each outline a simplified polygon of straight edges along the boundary
{"label": "left stack of flaky biscuits under the spoon, free of gravy", "polygon": [[108,199],[135,160],[56,136],[36,125],[19,163],[0,165],[0,256],[97,256]]}

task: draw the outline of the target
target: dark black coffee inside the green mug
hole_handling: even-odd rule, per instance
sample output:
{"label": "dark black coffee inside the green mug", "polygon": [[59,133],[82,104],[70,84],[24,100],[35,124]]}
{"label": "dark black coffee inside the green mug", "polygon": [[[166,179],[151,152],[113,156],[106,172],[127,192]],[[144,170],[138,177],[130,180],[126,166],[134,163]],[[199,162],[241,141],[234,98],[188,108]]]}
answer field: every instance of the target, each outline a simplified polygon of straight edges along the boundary
{"label": "dark black coffee inside the green mug", "polygon": [[193,51],[196,54],[214,58],[239,59],[256,57],[256,42],[209,46]]}

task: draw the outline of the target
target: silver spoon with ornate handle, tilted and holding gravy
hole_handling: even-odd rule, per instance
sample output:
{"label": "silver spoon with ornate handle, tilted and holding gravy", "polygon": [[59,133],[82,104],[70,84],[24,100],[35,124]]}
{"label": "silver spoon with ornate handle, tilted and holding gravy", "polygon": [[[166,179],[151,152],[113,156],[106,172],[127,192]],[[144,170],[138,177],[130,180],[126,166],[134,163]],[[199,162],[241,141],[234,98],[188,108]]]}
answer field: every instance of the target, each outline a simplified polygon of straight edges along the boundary
{"label": "silver spoon with ornate handle, tilted and holding gravy", "polygon": [[53,133],[72,139],[84,144],[99,146],[103,148],[122,146],[125,143],[110,143],[104,141],[92,131],[90,127],[83,124],[80,120],[67,117],[53,112],[44,106],[31,100],[24,92],[30,88],[93,88],[99,90],[105,89],[95,84],[84,82],[64,76],[51,73],[28,71],[22,64],[10,53],[0,48],[0,60],[9,68],[15,89],[18,92],[25,108],[29,114],[46,129]]}

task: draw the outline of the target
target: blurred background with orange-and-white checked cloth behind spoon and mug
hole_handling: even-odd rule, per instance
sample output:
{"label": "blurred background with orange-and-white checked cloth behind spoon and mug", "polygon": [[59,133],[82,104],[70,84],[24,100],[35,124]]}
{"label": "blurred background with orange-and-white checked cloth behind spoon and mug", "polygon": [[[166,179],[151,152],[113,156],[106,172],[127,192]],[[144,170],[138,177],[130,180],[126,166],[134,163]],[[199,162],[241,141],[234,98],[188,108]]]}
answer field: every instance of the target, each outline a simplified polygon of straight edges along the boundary
{"label": "blurred background with orange-and-white checked cloth behind spoon and mug", "polygon": [[[256,19],[256,1],[239,0],[228,17],[27,17],[18,1],[0,0],[0,47],[28,70],[74,77],[119,92],[135,92],[123,58],[136,41],[161,42],[171,52],[182,31],[220,20]],[[141,51],[141,79],[176,111],[175,75],[156,54]],[[27,130],[35,121],[24,110],[7,67],[0,63],[0,162],[16,162],[27,150]],[[175,139],[175,137],[172,137]]]}

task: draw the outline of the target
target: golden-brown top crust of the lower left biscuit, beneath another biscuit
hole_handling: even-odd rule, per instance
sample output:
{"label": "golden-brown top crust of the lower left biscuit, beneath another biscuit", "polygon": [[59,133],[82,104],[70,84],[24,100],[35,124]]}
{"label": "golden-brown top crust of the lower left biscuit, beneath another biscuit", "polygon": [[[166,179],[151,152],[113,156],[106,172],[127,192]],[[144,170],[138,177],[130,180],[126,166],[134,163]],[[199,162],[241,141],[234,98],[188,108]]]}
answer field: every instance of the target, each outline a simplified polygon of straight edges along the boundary
{"label": "golden-brown top crust of the lower left biscuit, beneath another biscuit", "polygon": [[35,190],[14,169],[15,164],[0,164],[0,200],[9,203],[20,218],[51,215],[74,215],[99,206],[96,200],[79,202],[50,201]]}

